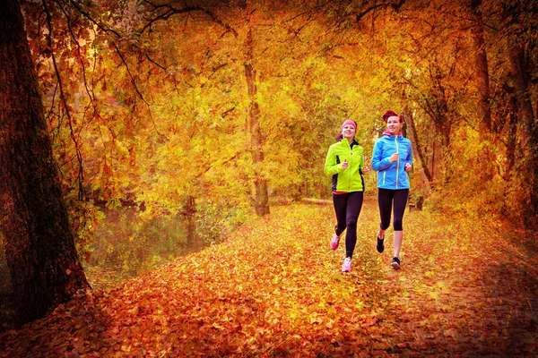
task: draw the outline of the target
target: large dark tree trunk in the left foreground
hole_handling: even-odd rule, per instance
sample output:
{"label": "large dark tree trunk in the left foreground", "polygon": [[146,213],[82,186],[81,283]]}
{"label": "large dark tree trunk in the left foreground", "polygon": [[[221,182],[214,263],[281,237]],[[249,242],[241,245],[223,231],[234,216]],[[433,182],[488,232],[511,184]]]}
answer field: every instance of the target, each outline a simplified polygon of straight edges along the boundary
{"label": "large dark tree trunk in the left foreground", "polygon": [[0,229],[19,324],[89,287],[52,157],[17,1],[0,0]]}

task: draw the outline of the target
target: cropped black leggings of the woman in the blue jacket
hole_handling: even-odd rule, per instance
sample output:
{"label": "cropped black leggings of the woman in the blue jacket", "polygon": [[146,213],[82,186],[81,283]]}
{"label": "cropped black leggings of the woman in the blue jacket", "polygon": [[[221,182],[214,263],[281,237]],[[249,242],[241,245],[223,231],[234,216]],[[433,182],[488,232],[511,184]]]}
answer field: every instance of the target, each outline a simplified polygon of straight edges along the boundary
{"label": "cropped black leggings of the woman in the blue jacket", "polygon": [[395,231],[404,230],[402,221],[404,220],[405,205],[407,204],[407,197],[409,195],[409,189],[378,189],[377,201],[379,202],[379,216],[381,217],[381,230],[386,230],[390,226],[390,212],[393,208],[393,201],[395,207]]}

